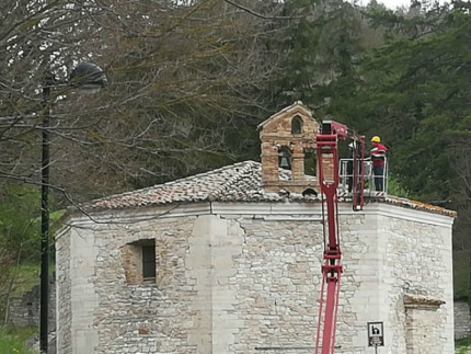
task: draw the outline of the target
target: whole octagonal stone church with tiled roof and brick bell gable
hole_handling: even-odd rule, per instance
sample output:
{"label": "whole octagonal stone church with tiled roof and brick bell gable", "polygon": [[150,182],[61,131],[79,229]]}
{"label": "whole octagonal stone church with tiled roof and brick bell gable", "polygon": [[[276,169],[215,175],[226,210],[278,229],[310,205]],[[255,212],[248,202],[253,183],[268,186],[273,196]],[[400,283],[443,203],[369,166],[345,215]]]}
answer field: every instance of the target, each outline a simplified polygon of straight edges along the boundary
{"label": "whole octagonal stone church with tiled roof and brick bell gable", "polygon": [[[322,201],[305,173],[319,124],[296,102],[244,161],[70,209],[56,235],[58,353],[314,352]],[[283,157],[289,169],[278,169]],[[453,353],[455,214],[409,199],[338,205],[335,352]]]}

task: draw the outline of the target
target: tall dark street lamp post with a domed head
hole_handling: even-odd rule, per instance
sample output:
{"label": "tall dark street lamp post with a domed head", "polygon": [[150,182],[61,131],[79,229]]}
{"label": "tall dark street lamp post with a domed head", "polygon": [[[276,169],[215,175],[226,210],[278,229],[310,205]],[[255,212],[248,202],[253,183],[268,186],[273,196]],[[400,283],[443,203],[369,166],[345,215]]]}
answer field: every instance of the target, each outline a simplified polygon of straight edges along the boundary
{"label": "tall dark street lamp post with a domed head", "polygon": [[[96,91],[106,85],[106,76],[94,64],[81,62],[71,72],[67,83],[85,91]],[[47,353],[48,346],[48,304],[49,304],[49,121],[50,90],[56,80],[48,73],[43,84],[44,115],[42,128],[41,164],[41,284],[39,284],[39,350]]]}

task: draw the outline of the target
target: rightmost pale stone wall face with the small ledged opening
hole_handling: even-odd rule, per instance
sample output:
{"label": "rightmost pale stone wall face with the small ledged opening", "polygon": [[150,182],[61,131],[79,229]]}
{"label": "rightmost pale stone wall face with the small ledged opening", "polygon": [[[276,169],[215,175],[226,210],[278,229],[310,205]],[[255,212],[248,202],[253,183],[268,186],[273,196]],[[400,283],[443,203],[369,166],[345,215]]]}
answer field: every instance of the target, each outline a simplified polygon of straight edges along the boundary
{"label": "rightmost pale stone wall face with the small ledged opening", "polygon": [[[430,219],[428,224],[417,222],[407,220],[405,215],[397,219],[387,216],[379,218],[382,241],[379,249],[384,249],[383,276],[390,283],[382,286],[380,297],[393,305],[383,316],[391,328],[390,340],[394,341],[394,352],[402,352],[403,341],[406,342],[407,353],[418,353],[417,349],[425,347],[429,349],[426,353],[430,354],[453,353],[455,350],[451,232],[437,221],[439,219]],[[415,328],[401,326],[406,316],[404,295],[445,302],[436,310],[414,311],[418,318],[434,321],[422,321],[421,335],[413,335],[413,344],[407,342],[407,332],[414,332]],[[445,335],[447,340],[443,339]]]}

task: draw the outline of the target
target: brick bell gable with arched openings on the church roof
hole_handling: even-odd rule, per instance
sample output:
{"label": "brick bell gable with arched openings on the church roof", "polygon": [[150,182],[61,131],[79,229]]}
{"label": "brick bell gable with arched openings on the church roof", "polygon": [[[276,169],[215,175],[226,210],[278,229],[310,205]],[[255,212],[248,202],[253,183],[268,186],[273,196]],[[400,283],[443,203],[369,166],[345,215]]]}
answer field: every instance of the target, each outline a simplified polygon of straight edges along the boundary
{"label": "brick bell gable with arched openings on the church roof", "polygon": [[[302,102],[297,101],[272,115],[259,125],[259,129],[262,141],[262,183],[265,191],[318,193],[317,175],[306,175],[306,165],[315,169],[315,135],[319,124]],[[312,160],[308,160],[308,157]],[[289,170],[290,173],[282,169]]]}

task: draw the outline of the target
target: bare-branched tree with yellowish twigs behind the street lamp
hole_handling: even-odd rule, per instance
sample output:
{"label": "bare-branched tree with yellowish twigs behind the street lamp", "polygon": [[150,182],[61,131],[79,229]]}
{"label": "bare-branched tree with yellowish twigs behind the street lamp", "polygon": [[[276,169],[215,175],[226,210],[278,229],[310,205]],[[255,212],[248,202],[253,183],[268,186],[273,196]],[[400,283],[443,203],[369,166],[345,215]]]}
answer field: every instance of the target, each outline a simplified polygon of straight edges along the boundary
{"label": "bare-branched tree with yellowish twigs behind the street lamp", "polygon": [[[246,146],[278,60],[263,45],[272,20],[215,0],[7,1],[2,11],[1,176],[37,183],[49,110],[54,186],[82,199],[256,156]],[[42,102],[45,76],[66,82],[82,59],[106,69],[107,90],[60,85]]]}

